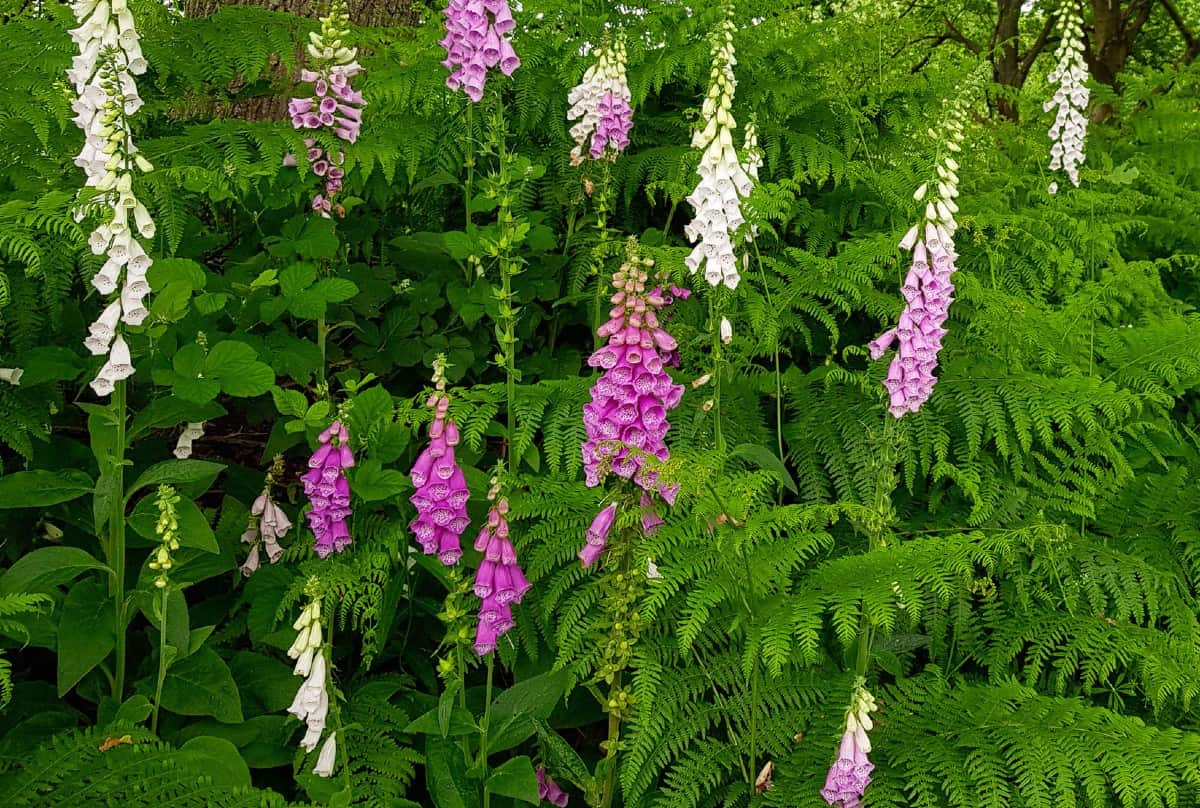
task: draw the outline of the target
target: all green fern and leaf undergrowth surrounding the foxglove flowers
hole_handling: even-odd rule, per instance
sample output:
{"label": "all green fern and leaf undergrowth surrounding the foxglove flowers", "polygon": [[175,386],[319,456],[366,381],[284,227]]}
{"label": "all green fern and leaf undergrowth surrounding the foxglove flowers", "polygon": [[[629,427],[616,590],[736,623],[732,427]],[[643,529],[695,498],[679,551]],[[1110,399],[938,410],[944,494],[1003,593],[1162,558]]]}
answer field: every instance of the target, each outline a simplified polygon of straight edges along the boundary
{"label": "all green fern and leaf undergrowth surrounding the foxglove flowers", "polygon": [[[325,6],[133,0],[157,232],[137,372],[112,400],[83,347],[104,213],[73,163],[74,17],[6,10],[5,801],[515,806],[545,767],[571,804],[815,807],[869,692],[868,807],[1200,804],[1200,6],[1086,4],[1074,187],[1048,168],[1043,102],[1076,4],[1020,5],[526,0],[521,66],[478,104],[446,88],[442,10],[406,5],[403,24],[352,26],[366,107],[348,144],[283,113]],[[1105,44],[1102,6],[1128,42]],[[689,274],[684,231],[726,14],[733,115],[763,156],[734,291]],[[568,92],[618,35],[631,143],[576,164]],[[905,305],[896,245],[954,98],[954,300],[937,385],[896,419],[866,346]],[[318,180],[288,164],[306,134],[344,149],[344,217],[313,215]],[[644,532],[624,507],[640,491],[589,487],[581,451],[626,253],[692,291],[664,315],[684,395],[655,468],[678,496]],[[470,492],[451,567],[409,527],[436,365]],[[323,558],[300,474],[335,418],[353,544]],[[482,658],[490,487],[532,588]],[[264,491],[294,527],[242,575]],[[314,599],[329,755],[288,713]]]}

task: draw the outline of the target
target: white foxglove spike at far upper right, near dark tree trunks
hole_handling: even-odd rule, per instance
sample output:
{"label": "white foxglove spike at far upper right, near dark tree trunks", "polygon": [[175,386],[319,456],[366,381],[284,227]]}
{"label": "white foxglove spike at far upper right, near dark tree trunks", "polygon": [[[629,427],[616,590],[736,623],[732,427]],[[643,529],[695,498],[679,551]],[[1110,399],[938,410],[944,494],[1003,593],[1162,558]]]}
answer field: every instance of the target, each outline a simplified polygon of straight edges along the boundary
{"label": "white foxglove spike at far upper right, near dark tree trunks", "polygon": [[[1078,0],[1066,0],[1058,18],[1062,38],[1055,50],[1055,68],[1048,79],[1057,84],[1054,97],[1043,104],[1046,112],[1058,108],[1050,127],[1050,170],[1067,173],[1079,186],[1079,166],[1084,162],[1084,138],[1087,137],[1087,62],[1084,61],[1084,20]],[[1050,185],[1050,193],[1058,184]]]}

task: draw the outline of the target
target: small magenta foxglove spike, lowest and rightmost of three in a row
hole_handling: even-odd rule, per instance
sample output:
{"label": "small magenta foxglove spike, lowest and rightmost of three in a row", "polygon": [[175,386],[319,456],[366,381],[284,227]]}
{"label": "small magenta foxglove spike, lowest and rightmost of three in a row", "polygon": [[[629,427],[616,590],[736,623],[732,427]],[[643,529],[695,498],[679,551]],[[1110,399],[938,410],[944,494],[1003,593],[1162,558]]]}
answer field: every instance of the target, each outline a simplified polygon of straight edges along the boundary
{"label": "small magenta foxglove spike, lowest and rightmost of three in a row", "polygon": [[[492,484],[493,493],[498,484]],[[493,497],[494,498],[494,497]],[[512,605],[529,591],[529,581],[517,564],[509,541],[508,499],[500,497],[487,511],[487,523],[475,538],[475,550],[484,553],[475,571],[475,597],[480,598],[475,653],[482,657],[496,650],[496,641],[512,628]]]}

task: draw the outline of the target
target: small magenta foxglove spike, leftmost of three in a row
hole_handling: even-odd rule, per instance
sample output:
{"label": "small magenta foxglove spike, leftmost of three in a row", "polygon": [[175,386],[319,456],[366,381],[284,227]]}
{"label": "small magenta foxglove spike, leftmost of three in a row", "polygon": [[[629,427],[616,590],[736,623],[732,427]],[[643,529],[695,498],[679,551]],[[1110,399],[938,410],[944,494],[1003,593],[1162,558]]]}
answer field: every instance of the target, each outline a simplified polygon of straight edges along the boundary
{"label": "small magenta foxglove spike, leftmost of three in a row", "polygon": [[313,549],[324,558],[350,544],[350,529],[346,525],[350,515],[350,484],[346,469],[354,465],[354,453],[349,432],[341,421],[330,424],[318,439],[320,445],[308,459],[308,471],[300,479],[312,503],[308,526],[317,538]]}

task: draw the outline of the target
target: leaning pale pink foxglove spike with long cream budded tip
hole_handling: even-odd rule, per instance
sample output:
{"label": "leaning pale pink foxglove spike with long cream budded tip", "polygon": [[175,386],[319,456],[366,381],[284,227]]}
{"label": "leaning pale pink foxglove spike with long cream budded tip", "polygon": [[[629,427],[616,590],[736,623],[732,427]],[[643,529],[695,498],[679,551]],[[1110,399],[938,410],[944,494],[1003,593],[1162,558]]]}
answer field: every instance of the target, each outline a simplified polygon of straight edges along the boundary
{"label": "leaning pale pink foxglove spike with long cream budded tip", "polygon": [[954,215],[959,210],[954,199],[959,196],[959,163],[953,154],[962,148],[966,97],[967,92],[960,94],[949,106],[942,132],[947,155],[937,163],[937,179],[922,185],[913,194],[917,202],[925,203],[925,215],[900,241],[902,250],[912,250],[912,267],[901,287],[906,305],[900,322],[869,345],[871,359],[880,359],[898,343],[883,382],[889,396],[888,411],[896,418],[920,409],[937,383],[934,371],[954,300],[952,276],[958,259]]}

